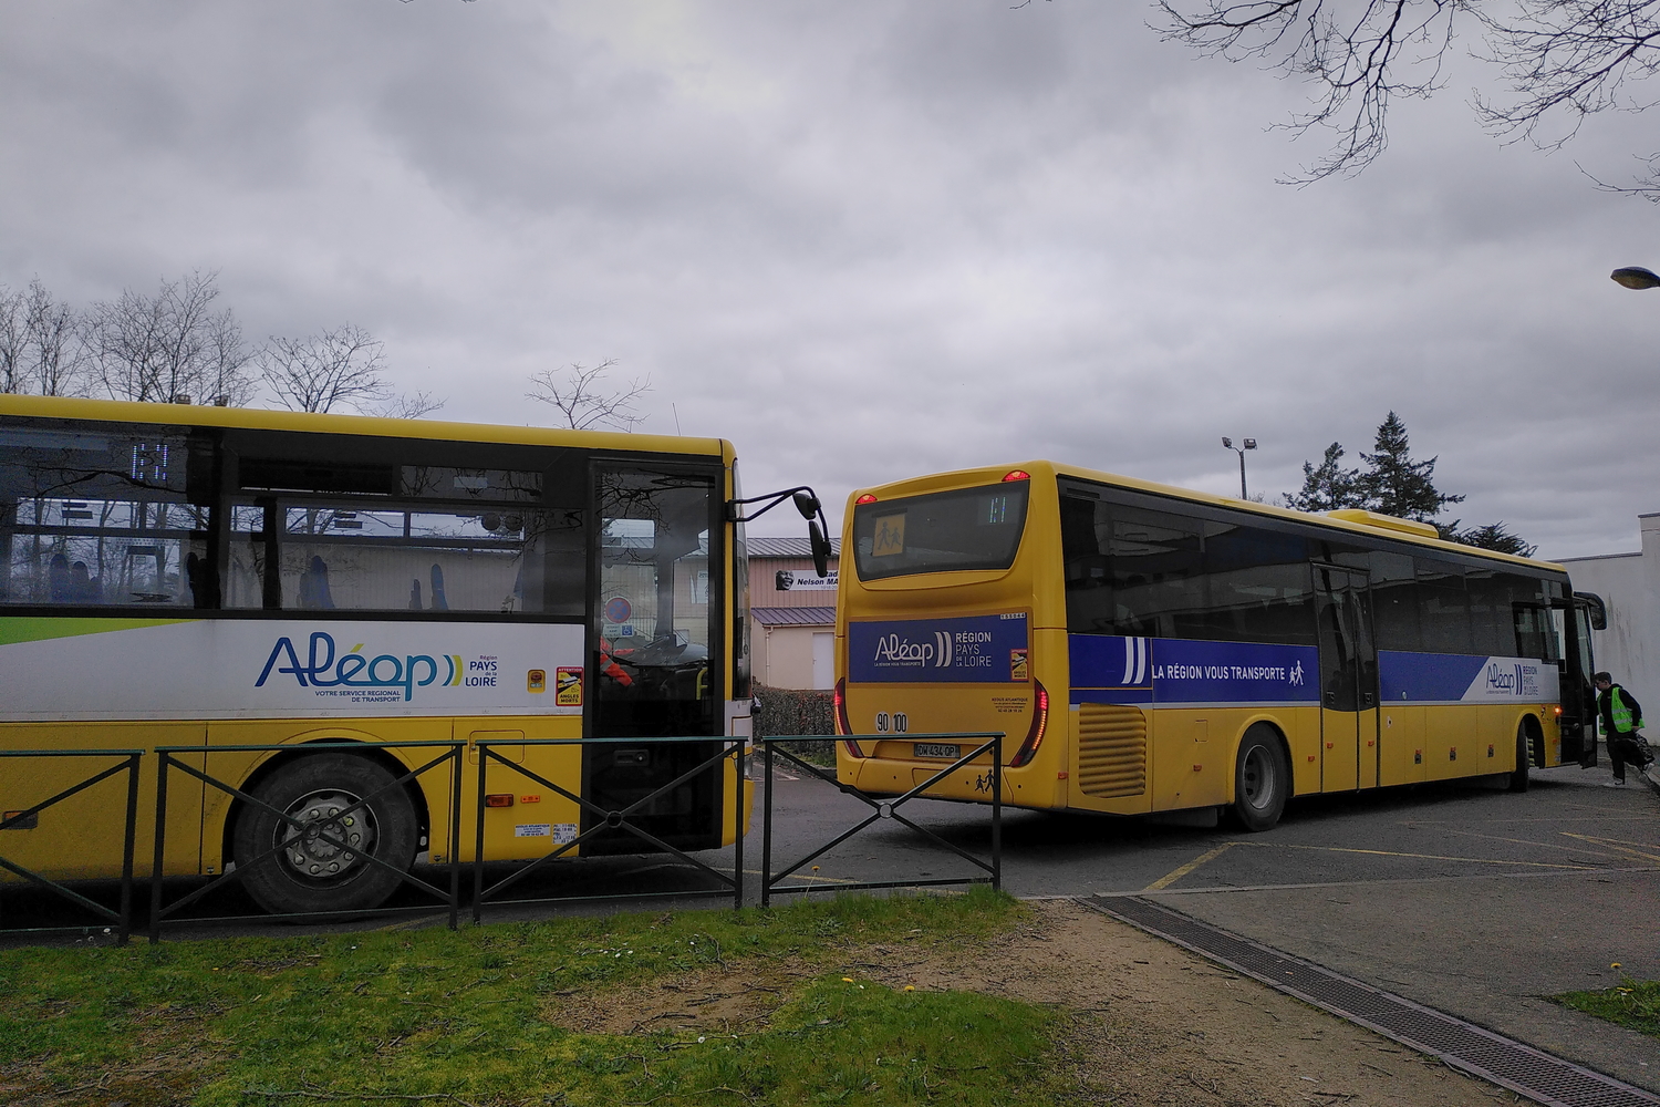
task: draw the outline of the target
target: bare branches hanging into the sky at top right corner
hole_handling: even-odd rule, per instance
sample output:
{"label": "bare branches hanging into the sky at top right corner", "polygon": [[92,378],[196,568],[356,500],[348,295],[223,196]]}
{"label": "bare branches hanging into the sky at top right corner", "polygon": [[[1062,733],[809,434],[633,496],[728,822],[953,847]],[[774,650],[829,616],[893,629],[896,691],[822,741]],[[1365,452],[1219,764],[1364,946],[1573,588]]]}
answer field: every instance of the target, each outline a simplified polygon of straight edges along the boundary
{"label": "bare branches hanging into the sky at top right corner", "polygon": [[[1496,134],[1560,146],[1585,116],[1642,111],[1628,83],[1660,70],[1660,0],[1159,0],[1167,40],[1230,61],[1263,58],[1316,86],[1313,108],[1286,126],[1336,133],[1325,158],[1293,183],[1358,173],[1388,148],[1394,96],[1428,98],[1441,65],[1474,23],[1471,53],[1496,63],[1511,101],[1479,101]],[[1554,119],[1564,126],[1545,134]],[[1638,191],[1655,196],[1660,154]]]}

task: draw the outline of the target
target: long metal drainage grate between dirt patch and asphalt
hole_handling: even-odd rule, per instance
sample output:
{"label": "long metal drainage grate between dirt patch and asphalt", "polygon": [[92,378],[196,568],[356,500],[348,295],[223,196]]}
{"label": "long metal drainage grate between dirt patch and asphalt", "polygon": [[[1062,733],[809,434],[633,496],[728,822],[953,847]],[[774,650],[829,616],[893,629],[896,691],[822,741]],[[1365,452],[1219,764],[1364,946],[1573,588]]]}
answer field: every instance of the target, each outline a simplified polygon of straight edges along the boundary
{"label": "long metal drainage grate between dirt patch and asphalt", "polygon": [[1235,973],[1277,988],[1331,1014],[1360,1022],[1403,1046],[1446,1061],[1550,1107],[1653,1107],[1660,1097],[1614,1077],[1552,1057],[1449,1014],[1361,984],[1311,961],[1217,929],[1135,896],[1082,901]]}

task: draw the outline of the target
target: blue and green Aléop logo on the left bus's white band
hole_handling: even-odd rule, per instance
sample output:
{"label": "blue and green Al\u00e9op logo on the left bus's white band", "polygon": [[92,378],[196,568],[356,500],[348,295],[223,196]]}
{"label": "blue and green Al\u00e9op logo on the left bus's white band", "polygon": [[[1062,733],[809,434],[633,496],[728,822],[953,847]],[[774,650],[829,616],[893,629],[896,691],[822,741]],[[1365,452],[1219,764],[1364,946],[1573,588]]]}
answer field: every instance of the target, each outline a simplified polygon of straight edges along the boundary
{"label": "blue and green Al\u00e9op logo on the left bus's white band", "polygon": [[[279,664],[279,662],[287,664]],[[498,659],[480,656],[463,662],[460,654],[377,654],[364,652],[364,642],[337,656],[332,634],[314,631],[305,659],[294,649],[294,641],[279,637],[271,647],[266,667],[259,671],[254,687],[264,687],[272,672],[292,675],[299,685],[319,689],[319,695],[352,695],[354,699],[415,699],[415,689],[425,687],[491,687],[496,684]]]}

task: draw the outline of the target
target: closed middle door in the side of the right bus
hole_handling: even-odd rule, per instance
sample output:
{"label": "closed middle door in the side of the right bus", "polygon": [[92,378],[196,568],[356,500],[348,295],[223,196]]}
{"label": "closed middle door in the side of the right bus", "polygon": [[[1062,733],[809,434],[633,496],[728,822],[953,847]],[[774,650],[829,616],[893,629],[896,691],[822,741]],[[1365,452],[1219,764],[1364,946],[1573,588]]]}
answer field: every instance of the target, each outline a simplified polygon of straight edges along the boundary
{"label": "closed middle door in the side of the right bus", "polygon": [[1378,649],[1368,574],[1315,566],[1323,792],[1378,785]]}

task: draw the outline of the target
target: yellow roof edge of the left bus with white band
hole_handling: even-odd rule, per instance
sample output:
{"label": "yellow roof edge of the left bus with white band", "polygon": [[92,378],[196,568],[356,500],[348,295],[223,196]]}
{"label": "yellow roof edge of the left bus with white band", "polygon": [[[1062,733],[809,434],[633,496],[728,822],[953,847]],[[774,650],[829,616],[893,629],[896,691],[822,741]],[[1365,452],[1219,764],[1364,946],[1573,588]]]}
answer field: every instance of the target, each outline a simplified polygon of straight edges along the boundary
{"label": "yellow roof edge of the left bus with white band", "polygon": [[430,418],[375,418],[370,415],[312,415],[266,408],[208,407],[194,403],[131,403],[68,397],[0,395],[0,417],[83,418],[106,423],[166,423],[171,427],[237,427],[292,430],[314,435],[378,435],[385,438],[438,438],[443,441],[496,441],[530,446],[586,446],[636,453],[704,453],[730,463],[725,438],[677,438],[603,430],[510,427],[498,423],[448,423]]}

